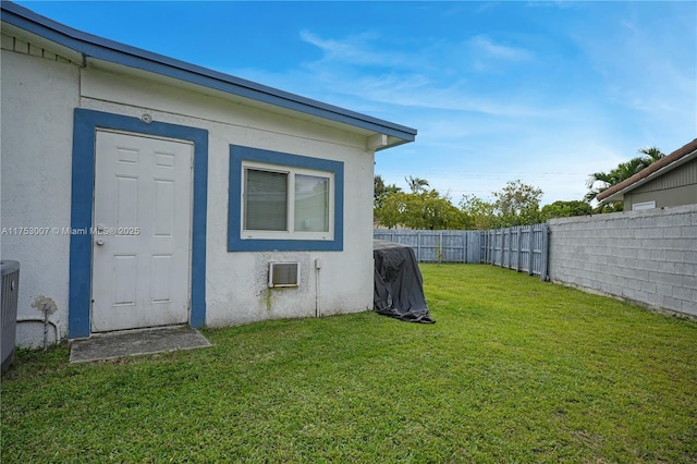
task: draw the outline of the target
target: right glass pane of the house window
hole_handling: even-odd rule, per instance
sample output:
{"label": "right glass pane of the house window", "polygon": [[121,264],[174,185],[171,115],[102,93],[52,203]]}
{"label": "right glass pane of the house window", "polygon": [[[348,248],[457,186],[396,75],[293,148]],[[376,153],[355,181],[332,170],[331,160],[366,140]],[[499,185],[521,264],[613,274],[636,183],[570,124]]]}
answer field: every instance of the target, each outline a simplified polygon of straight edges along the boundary
{"label": "right glass pane of the house window", "polygon": [[295,175],[295,232],[329,232],[329,179]]}

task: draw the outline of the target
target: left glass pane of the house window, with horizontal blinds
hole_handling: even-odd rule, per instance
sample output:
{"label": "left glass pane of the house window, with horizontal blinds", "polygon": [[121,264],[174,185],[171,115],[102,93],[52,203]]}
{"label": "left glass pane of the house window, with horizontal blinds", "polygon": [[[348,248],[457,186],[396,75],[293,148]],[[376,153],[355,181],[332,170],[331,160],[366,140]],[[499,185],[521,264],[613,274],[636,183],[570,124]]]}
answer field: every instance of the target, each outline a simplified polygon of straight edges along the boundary
{"label": "left glass pane of the house window, with horizontal blinds", "polygon": [[245,171],[244,228],[256,231],[288,230],[288,174]]}

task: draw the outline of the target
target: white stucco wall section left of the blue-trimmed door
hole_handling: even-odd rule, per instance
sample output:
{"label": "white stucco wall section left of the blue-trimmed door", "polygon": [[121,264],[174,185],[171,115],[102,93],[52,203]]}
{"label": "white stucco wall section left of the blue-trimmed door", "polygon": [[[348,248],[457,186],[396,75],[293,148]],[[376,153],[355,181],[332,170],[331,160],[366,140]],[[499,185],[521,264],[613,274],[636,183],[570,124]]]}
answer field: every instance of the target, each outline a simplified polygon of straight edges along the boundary
{"label": "white stucco wall section left of the blue-trimmed door", "polygon": [[[17,319],[50,319],[68,330],[73,108],[78,68],[2,50],[2,259],[20,261]],[[48,228],[42,235],[15,228]],[[57,229],[58,228],[58,232]],[[34,231],[36,232],[36,231]],[[49,342],[54,329],[49,328]],[[44,325],[19,322],[21,345],[42,343]]]}

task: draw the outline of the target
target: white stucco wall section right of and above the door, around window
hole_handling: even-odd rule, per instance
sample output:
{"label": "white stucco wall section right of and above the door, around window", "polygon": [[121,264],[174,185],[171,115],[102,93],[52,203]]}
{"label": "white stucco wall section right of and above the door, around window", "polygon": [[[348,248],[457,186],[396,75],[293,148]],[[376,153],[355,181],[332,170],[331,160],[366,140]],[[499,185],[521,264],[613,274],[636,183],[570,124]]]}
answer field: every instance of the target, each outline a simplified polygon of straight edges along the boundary
{"label": "white stucco wall section right of and above the door, around window", "polygon": [[[365,137],[249,108],[213,96],[85,70],[82,107],[209,131],[206,323],[365,310],[372,306],[374,154]],[[114,103],[114,100],[120,103]],[[186,114],[186,115],[184,115]],[[344,162],[343,252],[228,252],[230,145]],[[321,259],[321,269],[314,262]],[[268,289],[268,264],[301,262],[297,289]],[[319,273],[319,300],[316,278]]]}

